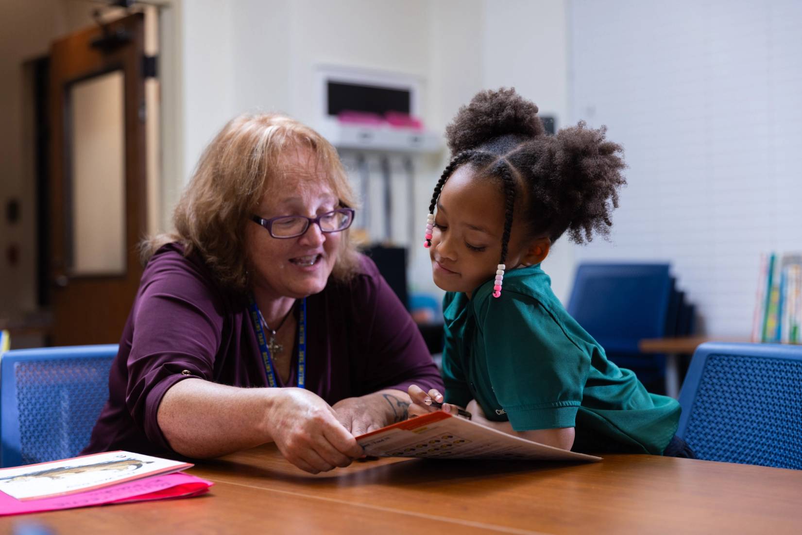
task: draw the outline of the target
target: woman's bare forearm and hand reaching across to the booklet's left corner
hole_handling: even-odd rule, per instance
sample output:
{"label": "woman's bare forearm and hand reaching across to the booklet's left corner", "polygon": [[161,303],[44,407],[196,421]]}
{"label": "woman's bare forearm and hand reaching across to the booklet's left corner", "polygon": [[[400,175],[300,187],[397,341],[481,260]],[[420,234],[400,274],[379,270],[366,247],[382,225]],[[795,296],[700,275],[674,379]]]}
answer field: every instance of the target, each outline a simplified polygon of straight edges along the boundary
{"label": "woman's bare forearm and hand reaching across to the booklet's left corner", "polygon": [[300,388],[184,379],[164,394],[156,419],[170,447],[188,457],[221,456],[273,441],[291,463],[317,473],[363,455],[328,403]]}

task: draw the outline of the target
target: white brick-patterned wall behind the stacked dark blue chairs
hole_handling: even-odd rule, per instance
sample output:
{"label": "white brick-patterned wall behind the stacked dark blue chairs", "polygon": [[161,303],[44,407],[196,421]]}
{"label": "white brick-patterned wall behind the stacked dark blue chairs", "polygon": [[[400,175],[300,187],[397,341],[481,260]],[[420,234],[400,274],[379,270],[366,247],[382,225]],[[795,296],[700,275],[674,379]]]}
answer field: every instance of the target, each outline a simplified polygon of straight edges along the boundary
{"label": "white brick-patterned wall behind the stacked dark blue chairs", "polygon": [[802,250],[802,2],[571,6],[572,115],[630,165],[577,258],[670,261],[709,334],[748,336],[760,253]]}

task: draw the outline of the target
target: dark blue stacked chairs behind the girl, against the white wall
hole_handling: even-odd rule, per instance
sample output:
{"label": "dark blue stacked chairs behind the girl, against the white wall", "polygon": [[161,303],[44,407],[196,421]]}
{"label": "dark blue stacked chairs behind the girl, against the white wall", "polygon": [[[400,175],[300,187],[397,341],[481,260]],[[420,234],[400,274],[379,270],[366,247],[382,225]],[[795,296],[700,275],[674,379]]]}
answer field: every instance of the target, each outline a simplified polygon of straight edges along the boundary
{"label": "dark blue stacked chairs behind the girl, against the white wall", "polygon": [[[665,263],[584,263],[577,267],[568,312],[618,366],[662,388],[663,355],[642,355],[642,338],[674,335],[669,318],[674,279]],[[678,307],[674,303],[674,309]]]}

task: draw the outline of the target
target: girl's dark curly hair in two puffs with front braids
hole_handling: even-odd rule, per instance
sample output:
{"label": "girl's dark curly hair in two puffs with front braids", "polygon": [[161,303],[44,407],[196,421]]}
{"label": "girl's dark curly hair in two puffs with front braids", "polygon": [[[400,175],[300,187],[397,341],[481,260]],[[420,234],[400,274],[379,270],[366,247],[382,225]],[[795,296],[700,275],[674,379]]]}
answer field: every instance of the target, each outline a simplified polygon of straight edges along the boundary
{"label": "girl's dark curly hair in two puffs with front braids", "polygon": [[[504,234],[500,264],[507,256],[512,217],[520,212],[533,237],[557,241],[566,231],[577,244],[607,236],[626,184],[623,148],[605,139],[606,127],[584,122],[547,136],[537,105],[514,88],[480,91],[460,107],[446,128],[452,160],[431,197],[429,213],[448,177],[462,165],[499,180],[504,188]],[[517,207],[517,209],[516,209]]]}

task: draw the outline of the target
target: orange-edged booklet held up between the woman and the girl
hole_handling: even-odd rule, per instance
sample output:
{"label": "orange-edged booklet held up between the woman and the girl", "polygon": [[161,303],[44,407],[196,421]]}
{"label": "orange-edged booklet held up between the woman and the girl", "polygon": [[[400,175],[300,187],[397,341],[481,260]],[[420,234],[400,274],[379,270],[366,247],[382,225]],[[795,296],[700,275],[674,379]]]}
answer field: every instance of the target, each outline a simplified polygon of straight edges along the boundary
{"label": "orange-edged booklet held up between the woman and the girl", "polygon": [[443,411],[407,419],[356,440],[367,455],[376,457],[602,460],[508,435]]}

